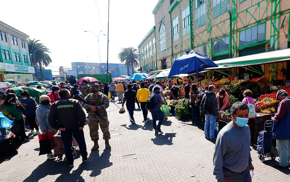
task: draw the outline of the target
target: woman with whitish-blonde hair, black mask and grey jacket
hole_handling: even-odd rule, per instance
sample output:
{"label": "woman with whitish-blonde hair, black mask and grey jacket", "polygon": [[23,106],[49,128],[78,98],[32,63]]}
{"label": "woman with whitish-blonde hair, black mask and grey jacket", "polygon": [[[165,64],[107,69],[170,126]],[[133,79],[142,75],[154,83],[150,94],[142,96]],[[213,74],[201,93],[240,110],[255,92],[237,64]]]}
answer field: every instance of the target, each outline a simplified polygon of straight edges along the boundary
{"label": "woman with whitish-blonde hair, black mask and grey jacket", "polygon": [[[48,114],[50,110],[50,98],[47,95],[42,95],[39,97],[39,105],[36,109],[36,118],[39,123],[39,129],[42,132],[43,135],[46,135],[47,133],[53,133],[56,134],[57,130],[53,129],[49,123],[48,123]],[[47,158],[49,160],[54,160],[55,157],[52,153],[47,154]]]}

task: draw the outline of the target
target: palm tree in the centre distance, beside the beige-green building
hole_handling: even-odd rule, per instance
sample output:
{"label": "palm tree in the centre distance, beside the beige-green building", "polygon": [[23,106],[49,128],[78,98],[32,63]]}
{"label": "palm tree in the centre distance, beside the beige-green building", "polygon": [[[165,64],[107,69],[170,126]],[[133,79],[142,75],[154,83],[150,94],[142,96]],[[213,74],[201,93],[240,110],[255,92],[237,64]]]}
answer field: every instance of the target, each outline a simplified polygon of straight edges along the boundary
{"label": "palm tree in the centre distance, beside the beige-green building", "polygon": [[132,69],[132,74],[134,73],[134,68],[139,66],[139,52],[133,47],[122,48],[121,52],[118,54],[118,58],[121,62],[125,62],[127,67],[127,73],[129,76],[129,68]]}

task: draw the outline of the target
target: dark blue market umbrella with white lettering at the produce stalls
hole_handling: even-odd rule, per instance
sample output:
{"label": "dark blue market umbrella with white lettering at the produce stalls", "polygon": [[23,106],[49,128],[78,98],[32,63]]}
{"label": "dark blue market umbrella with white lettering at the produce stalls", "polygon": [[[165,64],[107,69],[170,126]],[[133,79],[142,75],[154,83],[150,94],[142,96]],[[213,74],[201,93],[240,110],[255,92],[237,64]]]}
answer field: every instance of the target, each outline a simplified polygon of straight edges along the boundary
{"label": "dark blue market umbrella with white lettering at the produce stalls", "polygon": [[173,62],[168,77],[193,71],[196,72],[197,76],[200,70],[211,67],[218,66],[212,60],[198,52],[188,50],[183,56],[180,56]]}

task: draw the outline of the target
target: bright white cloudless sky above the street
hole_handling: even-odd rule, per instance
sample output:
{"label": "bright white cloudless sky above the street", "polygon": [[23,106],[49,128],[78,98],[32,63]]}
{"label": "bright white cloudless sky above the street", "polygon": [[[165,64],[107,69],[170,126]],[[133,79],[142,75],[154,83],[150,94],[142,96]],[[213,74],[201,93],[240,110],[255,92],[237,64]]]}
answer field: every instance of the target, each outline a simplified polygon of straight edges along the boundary
{"label": "bright white cloudless sky above the street", "polygon": [[[152,11],[157,2],[110,1],[109,63],[121,63],[121,48],[138,50],[154,26]],[[100,62],[99,57],[107,62],[108,0],[1,0],[1,15],[0,21],[49,48],[52,63],[46,69],[70,68],[71,62]],[[100,54],[97,37],[84,31],[96,35],[102,31]]]}

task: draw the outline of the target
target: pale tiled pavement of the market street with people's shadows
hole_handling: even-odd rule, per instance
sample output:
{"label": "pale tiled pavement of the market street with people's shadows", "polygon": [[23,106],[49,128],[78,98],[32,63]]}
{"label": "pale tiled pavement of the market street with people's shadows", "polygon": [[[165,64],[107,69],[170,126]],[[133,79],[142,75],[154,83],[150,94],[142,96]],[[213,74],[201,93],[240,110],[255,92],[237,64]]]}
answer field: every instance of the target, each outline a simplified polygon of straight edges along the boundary
{"label": "pale tiled pavement of the market street with people's shadows", "polygon": [[[0,181],[216,181],[212,175],[215,146],[204,138],[202,130],[192,126],[191,122],[169,117],[161,128],[164,134],[155,135],[152,120],[145,124],[141,122],[141,110],[134,112],[136,124],[131,125],[127,111],[118,113],[120,106],[110,102],[107,109],[111,150],[105,150],[104,140],[99,140],[99,150],[91,152],[93,143],[85,126],[89,161],[81,163],[81,158],[77,158],[72,168],[67,167],[66,162],[46,160],[46,155],[38,156],[38,138],[34,137],[20,146],[18,155],[0,159]],[[251,155],[255,167],[254,182],[290,181],[290,170],[279,171],[271,167],[273,162],[268,159],[261,163],[255,150]]]}

